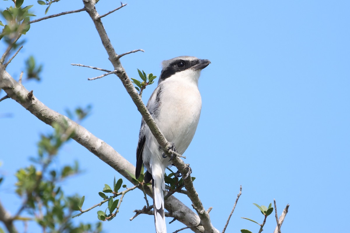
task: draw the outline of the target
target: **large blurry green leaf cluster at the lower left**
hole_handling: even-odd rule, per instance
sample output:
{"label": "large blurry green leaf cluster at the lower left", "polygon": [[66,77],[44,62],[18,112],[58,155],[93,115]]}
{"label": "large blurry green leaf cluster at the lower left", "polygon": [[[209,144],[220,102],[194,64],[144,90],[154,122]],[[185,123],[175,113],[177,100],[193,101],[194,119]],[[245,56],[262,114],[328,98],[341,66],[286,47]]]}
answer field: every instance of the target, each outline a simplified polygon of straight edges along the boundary
{"label": "large blurry green leaf cluster at the lower left", "polygon": [[[52,163],[73,132],[58,124],[52,126],[52,133],[41,136],[38,154],[30,158],[33,164],[15,173],[15,192],[25,201],[14,218],[18,221],[35,221],[43,232],[101,232],[101,223],[74,224],[71,220],[73,210],[81,209],[84,197],[65,195],[59,183],[78,174],[80,169],[77,162],[58,168]],[[26,217],[21,216],[23,211],[27,212]]]}

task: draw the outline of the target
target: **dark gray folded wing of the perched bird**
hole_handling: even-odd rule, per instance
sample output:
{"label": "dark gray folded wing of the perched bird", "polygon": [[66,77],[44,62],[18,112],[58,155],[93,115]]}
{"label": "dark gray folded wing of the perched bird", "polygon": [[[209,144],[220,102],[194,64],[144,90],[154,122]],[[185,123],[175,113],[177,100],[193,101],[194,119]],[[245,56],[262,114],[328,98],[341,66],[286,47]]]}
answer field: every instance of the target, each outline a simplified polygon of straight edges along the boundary
{"label": "dark gray folded wing of the perched bird", "polygon": [[[159,111],[160,111],[161,93],[162,93],[162,87],[161,87],[161,85],[159,85],[154,90],[154,92],[152,93],[152,95],[149,98],[148,103],[147,103],[147,109],[148,109],[149,113],[151,113],[153,118],[156,118],[159,114]],[[142,163],[143,163],[142,154],[143,154],[144,146],[145,146],[145,142],[146,142],[145,130],[146,130],[146,122],[145,122],[144,118],[142,118],[140,134],[139,134],[139,143],[137,145],[137,150],[136,150],[136,171],[135,171],[136,179],[138,179],[140,177],[140,174],[141,174],[141,168],[142,168]],[[150,178],[149,175],[151,175],[151,174],[149,174],[149,172],[148,172],[148,174],[146,174],[148,179]]]}

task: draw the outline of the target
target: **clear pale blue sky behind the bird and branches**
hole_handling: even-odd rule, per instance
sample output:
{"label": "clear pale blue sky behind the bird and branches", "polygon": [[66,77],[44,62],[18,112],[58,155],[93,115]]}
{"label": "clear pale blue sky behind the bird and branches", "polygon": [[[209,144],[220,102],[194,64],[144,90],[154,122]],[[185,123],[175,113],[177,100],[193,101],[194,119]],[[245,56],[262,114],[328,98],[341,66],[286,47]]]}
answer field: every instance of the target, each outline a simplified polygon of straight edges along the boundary
{"label": "clear pale blue sky behind the bird and branches", "polygon": [[[1,9],[9,2],[1,1]],[[121,59],[129,77],[138,77],[137,68],[159,76],[161,61],[176,56],[211,60],[199,81],[200,123],[184,155],[205,208],[213,207],[213,225],[223,229],[242,185],[226,232],[258,232],[258,225],[240,217],[262,222],[252,203],[268,205],[273,198],[279,214],[290,204],[283,233],[347,231],[343,218],[348,216],[350,188],[350,2],[124,3],[128,6],[103,18],[103,23],[118,53],[145,50]],[[25,0],[24,5],[31,4],[42,17],[45,7]],[[119,2],[100,0],[97,9],[104,14],[118,6]],[[62,0],[52,4],[48,14],[82,7],[81,1]],[[60,113],[91,104],[92,114],[82,125],[135,164],[141,116],[120,80],[109,75],[87,81],[102,72],[70,65],[112,69],[87,13],[34,23],[25,38],[8,72],[18,79],[24,60],[34,55],[44,65],[42,81],[25,82],[25,87]],[[144,102],[154,88],[146,88]],[[20,200],[12,195],[14,173],[29,165],[40,134],[51,128],[13,100],[0,103],[4,113],[13,116],[0,118],[0,172],[6,178],[0,200],[15,213]],[[85,172],[62,185],[68,194],[85,195],[84,207],[89,207],[100,201],[98,192],[105,183],[121,176],[75,141],[64,146],[55,162],[62,166],[75,159]],[[190,205],[182,195],[177,197]],[[142,192],[129,193],[118,217],[104,223],[105,232],[153,232],[151,216],[128,220],[144,204]],[[77,221],[97,221],[96,211]],[[264,232],[274,230],[275,221],[269,218]],[[172,223],[168,232],[182,227]],[[32,229],[29,232],[36,232]]]}

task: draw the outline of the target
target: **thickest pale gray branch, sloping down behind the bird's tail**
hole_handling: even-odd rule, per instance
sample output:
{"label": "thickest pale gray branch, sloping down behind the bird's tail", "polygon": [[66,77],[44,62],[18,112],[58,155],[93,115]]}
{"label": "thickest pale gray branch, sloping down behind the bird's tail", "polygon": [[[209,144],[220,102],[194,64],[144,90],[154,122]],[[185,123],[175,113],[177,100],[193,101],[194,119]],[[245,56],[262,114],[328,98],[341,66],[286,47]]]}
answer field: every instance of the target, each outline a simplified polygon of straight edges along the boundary
{"label": "thickest pale gray branch, sloping down behind the bird's tail", "polygon": [[[110,145],[87,131],[83,126],[78,125],[68,117],[48,108],[36,99],[35,95],[28,98],[29,91],[20,83],[16,82],[16,80],[5,71],[2,65],[0,65],[0,88],[5,90],[11,99],[21,104],[23,108],[27,109],[42,122],[48,125],[52,125],[56,122],[64,129],[67,128],[67,125],[73,127],[75,129],[75,134],[72,138],[75,141],[115,169],[128,181],[134,185],[138,184],[138,182],[133,181],[133,178],[130,176],[130,174],[135,172],[135,167],[129,161],[116,152]],[[141,187],[139,187],[139,189],[141,189]],[[146,185],[144,189],[147,195],[152,196],[151,185]],[[186,226],[194,226],[200,222],[198,216],[174,196],[170,196],[167,199],[165,207],[172,212],[173,217]],[[204,229],[202,228],[201,230],[197,229],[195,232],[200,233],[203,231]]]}

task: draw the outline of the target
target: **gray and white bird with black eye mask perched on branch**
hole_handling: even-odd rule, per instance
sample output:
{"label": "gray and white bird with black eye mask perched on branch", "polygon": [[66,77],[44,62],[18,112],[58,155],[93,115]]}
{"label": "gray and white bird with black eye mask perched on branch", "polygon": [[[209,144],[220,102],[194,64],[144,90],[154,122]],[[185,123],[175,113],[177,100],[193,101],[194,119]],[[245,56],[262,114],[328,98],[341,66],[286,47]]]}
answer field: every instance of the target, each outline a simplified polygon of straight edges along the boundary
{"label": "gray and white bird with black eye mask perched on branch", "polygon": [[[183,154],[191,143],[201,115],[202,99],[198,90],[201,70],[211,62],[190,56],[162,62],[158,86],[147,102],[147,109],[175,152]],[[147,171],[145,183],[152,180],[153,209],[156,233],[166,233],[164,216],[165,169],[172,165],[151,130],[142,118],[136,151],[135,177],[142,164]]]}

